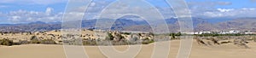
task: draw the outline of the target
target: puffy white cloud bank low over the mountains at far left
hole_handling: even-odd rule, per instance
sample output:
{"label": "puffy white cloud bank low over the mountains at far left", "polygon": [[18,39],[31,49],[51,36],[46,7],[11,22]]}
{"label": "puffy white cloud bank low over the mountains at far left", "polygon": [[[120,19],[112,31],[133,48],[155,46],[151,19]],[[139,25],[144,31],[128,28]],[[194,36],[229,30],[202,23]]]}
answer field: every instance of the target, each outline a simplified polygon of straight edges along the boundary
{"label": "puffy white cloud bank low over the mountains at far left", "polygon": [[33,22],[33,21],[44,21],[44,22],[55,22],[61,21],[62,13],[52,13],[53,9],[48,8],[45,12],[39,11],[26,11],[17,10],[5,13],[4,17],[7,17],[9,22],[22,23],[22,22]]}

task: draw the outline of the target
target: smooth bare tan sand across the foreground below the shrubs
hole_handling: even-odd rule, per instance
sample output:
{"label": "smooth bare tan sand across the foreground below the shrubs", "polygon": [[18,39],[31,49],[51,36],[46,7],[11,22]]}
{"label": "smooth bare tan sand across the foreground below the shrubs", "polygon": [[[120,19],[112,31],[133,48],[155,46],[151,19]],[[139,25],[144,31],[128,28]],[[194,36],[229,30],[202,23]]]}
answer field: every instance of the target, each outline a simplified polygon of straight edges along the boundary
{"label": "smooth bare tan sand across the foreground below the shrubs", "polygon": [[[176,58],[179,40],[171,41],[169,58]],[[256,43],[250,42],[251,49],[241,49],[233,44],[204,46],[194,41],[189,58],[255,58]],[[115,46],[118,50],[125,50],[128,46]],[[150,58],[154,44],[143,45],[136,58]],[[95,46],[84,46],[90,58],[107,58]],[[66,58],[62,45],[26,44],[16,46],[0,46],[0,58]]]}

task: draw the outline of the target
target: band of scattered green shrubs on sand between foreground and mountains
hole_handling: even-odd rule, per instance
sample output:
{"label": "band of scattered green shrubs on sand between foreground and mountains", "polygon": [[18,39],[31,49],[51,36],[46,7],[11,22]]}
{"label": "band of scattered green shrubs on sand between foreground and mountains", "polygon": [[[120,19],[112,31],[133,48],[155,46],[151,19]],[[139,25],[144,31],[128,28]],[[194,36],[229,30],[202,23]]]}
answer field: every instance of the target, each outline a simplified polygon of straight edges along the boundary
{"label": "band of scattered green shrubs on sand between foreground and mountains", "polygon": [[[84,30],[85,31],[85,30]],[[59,32],[57,30],[53,32]],[[13,32],[2,32],[3,35],[19,35],[19,33],[12,34]],[[22,35],[22,33],[21,33]],[[118,31],[108,31],[105,35],[97,34],[80,34],[80,35],[73,35],[73,34],[67,34],[67,36],[63,37],[60,34],[55,33],[49,33],[49,32],[24,32],[24,35],[26,36],[32,36],[28,37],[24,40],[18,40],[18,38],[5,38],[1,39],[0,44],[1,45],[17,45],[17,44],[70,44],[70,45],[128,45],[128,44],[151,44],[158,41],[167,41],[167,40],[173,40],[173,39],[180,39],[181,36],[196,36],[196,40],[198,44],[203,45],[222,45],[222,44],[236,44],[237,46],[244,46],[248,48],[247,43],[248,41],[256,42],[256,38],[252,37],[253,34],[245,35],[245,34],[218,34],[218,33],[203,33],[203,34],[197,34],[197,35],[189,35],[189,34],[182,34],[181,32],[176,33],[165,33],[165,34],[154,34],[153,32],[145,33],[145,32],[137,32],[137,33],[131,33],[131,32],[118,32]],[[46,36],[46,38],[44,37]],[[78,36],[79,38],[77,38]],[[102,37],[102,38],[95,38]],[[62,40],[61,38],[72,38],[71,40]],[[80,39],[81,38],[81,39]],[[104,39],[105,38],[105,39]],[[233,42],[230,41],[230,39],[241,39],[244,40]],[[14,41],[13,41],[14,40]],[[83,43],[82,43],[83,42]]]}

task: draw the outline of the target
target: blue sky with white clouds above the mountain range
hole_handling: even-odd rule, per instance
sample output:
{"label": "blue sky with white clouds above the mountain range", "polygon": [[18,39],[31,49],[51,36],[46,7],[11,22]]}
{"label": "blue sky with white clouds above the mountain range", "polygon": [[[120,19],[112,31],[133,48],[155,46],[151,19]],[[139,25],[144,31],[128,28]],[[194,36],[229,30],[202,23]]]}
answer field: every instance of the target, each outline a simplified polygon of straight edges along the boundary
{"label": "blue sky with white clouds above the mountain range", "polygon": [[[94,19],[114,0],[94,0],[85,19]],[[175,15],[165,0],[146,0],[160,10],[165,18]],[[186,0],[193,17],[255,17],[255,0]],[[0,24],[32,21],[61,21],[67,0],[1,0]],[[122,6],[120,6],[122,7]],[[135,10],[136,9],[131,9]]]}

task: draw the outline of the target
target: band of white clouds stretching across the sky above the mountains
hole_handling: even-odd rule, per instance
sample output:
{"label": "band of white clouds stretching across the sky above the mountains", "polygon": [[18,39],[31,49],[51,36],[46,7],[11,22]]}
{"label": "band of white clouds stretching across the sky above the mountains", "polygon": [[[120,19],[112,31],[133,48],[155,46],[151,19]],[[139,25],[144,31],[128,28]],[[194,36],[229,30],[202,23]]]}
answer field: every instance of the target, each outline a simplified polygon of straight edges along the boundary
{"label": "band of white clouds stretching across the sky above the mountains", "polygon": [[[5,1],[5,2],[4,2]],[[12,3],[12,1],[15,0],[3,0],[3,2],[0,3]],[[20,1],[20,0],[17,0]],[[28,1],[34,1],[34,0],[28,0]],[[57,0],[58,1],[58,0]],[[42,2],[44,3],[44,2]],[[225,2],[215,2],[210,3],[208,6],[212,5],[228,5],[230,3]],[[40,4],[40,3],[38,3]],[[87,9],[87,13],[85,13],[85,19],[96,19],[99,17],[99,14],[101,13],[102,9],[104,9],[109,3],[103,2],[103,1],[95,1],[93,3],[90,3],[90,7]],[[193,3],[190,3],[190,5]],[[190,6],[190,11],[192,13],[193,17],[255,17],[256,15],[256,8],[242,8],[242,9],[206,9],[203,6],[207,6],[207,3],[201,3],[200,5],[204,4],[203,6],[195,6],[196,3],[194,3],[194,6]],[[198,5],[198,4],[197,4]],[[150,11],[153,11],[150,8],[137,8],[127,5],[116,5],[113,9],[108,9],[108,13],[142,13],[143,11],[147,10],[148,13],[142,13],[147,14],[148,16],[154,16],[155,14],[150,13]],[[195,7],[195,8],[191,8]],[[160,13],[163,14],[163,16],[168,19],[175,17],[175,14],[173,13],[171,8],[162,8],[157,7],[159,9]],[[47,8],[45,11],[27,11],[27,10],[17,10],[17,11],[10,11],[8,13],[1,13],[0,16],[7,17],[9,21],[13,22],[32,22],[32,21],[44,21],[44,22],[52,22],[52,21],[61,21],[62,14],[63,13],[54,13],[55,9]],[[75,19],[76,16],[84,14],[81,9],[76,10],[77,12],[67,13],[68,15],[72,15]],[[182,11],[183,12],[183,11]],[[182,13],[179,12],[179,13]],[[119,14],[109,14],[106,16],[115,16]],[[187,16],[185,16],[187,17]],[[131,18],[131,20],[139,20],[139,18]]]}

